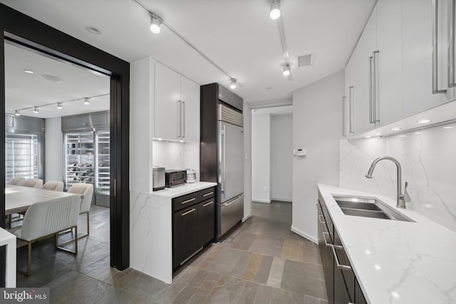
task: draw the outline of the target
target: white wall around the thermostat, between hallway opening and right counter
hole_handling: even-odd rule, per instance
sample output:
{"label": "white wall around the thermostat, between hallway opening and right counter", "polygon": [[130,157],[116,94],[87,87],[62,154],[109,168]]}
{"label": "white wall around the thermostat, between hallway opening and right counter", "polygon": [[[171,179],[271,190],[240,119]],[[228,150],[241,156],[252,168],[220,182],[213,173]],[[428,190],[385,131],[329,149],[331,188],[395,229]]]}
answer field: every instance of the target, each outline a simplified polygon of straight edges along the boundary
{"label": "white wall around the thermostat, between hallway opening and right counter", "polygon": [[293,93],[293,148],[306,148],[293,158],[291,230],[317,243],[316,184],[337,185],[341,138],[343,70]]}

